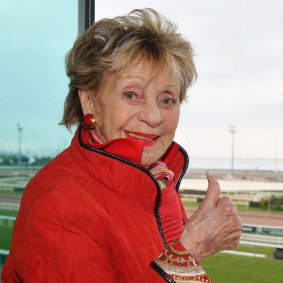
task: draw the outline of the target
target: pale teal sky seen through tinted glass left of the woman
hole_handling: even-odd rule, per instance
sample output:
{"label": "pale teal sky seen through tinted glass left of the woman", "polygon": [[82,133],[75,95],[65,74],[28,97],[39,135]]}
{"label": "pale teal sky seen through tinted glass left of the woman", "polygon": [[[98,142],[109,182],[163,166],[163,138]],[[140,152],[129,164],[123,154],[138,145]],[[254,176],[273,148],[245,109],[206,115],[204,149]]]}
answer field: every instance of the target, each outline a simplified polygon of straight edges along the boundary
{"label": "pale teal sky seen through tinted glass left of the woman", "polygon": [[68,92],[64,57],[78,34],[78,0],[0,1],[0,152],[54,156],[71,134],[59,126]]}

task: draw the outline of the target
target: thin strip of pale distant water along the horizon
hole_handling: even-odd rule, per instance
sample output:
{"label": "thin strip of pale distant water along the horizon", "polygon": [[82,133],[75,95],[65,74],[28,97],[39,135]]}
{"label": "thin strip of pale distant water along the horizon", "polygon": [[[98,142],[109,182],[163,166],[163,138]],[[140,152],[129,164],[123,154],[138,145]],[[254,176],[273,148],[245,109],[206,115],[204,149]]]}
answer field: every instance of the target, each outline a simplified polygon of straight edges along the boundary
{"label": "thin strip of pale distant water along the horizon", "polygon": [[[193,169],[231,169],[229,158],[193,158],[189,159],[189,168]],[[234,159],[234,170],[283,171],[283,159]]]}

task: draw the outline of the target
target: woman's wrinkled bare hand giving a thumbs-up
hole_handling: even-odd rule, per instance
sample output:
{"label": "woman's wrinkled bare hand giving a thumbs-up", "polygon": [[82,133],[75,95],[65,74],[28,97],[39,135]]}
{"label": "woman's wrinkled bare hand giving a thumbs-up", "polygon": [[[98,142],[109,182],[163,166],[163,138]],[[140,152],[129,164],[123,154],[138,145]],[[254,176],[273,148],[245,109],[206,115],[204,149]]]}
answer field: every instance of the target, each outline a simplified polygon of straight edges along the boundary
{"label": "woman's wrinkled bare hand giving a thumbs-up", "polygon": [[208,171],[206,178],[205,198],[185,223],[179,240],[199,263],[211,254],[235,248],[242,228],[235,204],[228,197],[219,198],[219,183]]}

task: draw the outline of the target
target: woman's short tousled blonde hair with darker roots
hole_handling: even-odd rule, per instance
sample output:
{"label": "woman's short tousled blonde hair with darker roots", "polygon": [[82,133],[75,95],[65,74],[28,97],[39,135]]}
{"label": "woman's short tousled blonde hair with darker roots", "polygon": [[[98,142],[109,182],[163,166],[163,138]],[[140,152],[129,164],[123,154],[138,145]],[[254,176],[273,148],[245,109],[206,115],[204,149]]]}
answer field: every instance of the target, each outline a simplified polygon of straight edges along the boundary
{"label": "woman's short tousled blonde hair with darker roots", "polygon": [[107,75],[144,56],[152,62],[153,73],[165,69],[180,81],[182,102],[197,78],[193,48],[174,23],[153,9],[136,9],[127,16],[94,23],[75,41],[65,60],[70,84],[60,124],[70,129],[83,120],[79,89],[99,93]]}

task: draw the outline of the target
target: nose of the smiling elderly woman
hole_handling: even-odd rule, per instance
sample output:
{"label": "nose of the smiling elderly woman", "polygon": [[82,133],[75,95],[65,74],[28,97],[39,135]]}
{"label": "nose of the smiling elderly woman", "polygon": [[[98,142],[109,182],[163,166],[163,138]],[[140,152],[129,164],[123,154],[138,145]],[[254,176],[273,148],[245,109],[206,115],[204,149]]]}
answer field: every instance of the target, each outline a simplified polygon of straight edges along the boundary
{"label": "nose of the smiling elderly woman", "polygon": [[156,101],[144,103],[137,117],[139,121],[147,123],[151,128],[155,128],[162,123],[161,109]]}

